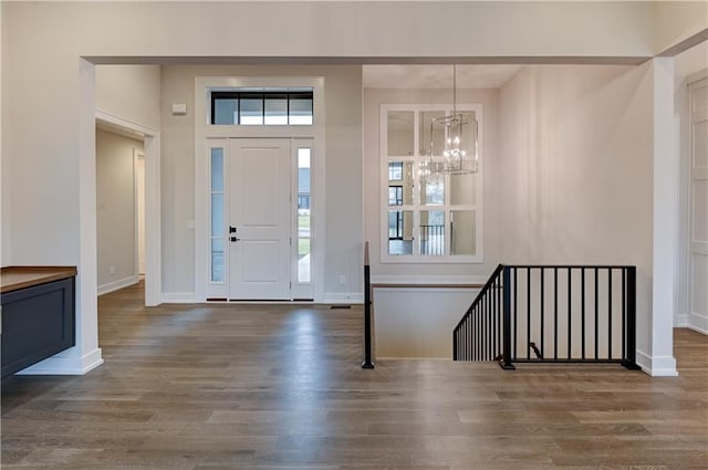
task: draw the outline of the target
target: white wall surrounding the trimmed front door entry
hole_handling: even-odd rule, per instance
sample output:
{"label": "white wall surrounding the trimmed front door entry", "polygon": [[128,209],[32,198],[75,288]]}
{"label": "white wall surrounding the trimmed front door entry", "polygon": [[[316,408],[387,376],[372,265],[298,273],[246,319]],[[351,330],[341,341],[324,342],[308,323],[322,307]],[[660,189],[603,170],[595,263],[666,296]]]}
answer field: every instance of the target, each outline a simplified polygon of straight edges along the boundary
{"label": "white wall surrounding the trimmed front door entry", "polygon": [[[325,297],[363,292],[362,265],[362,71],[361,66],[225,65],[163,67],[163,292],[195,292],[195,79],[197,76],[324,76],[326,243]],[[187,104],[173,116],[173,103]],[[315,106],[317,104],[315,103]],[[322,197],[322,195],[315,197]],[[317,241],[315,240],[315,243]],[[320,241],[321,242],[321,241]],[[340,285],[340,275],[346,279]],[[204,282],[200,280],[198,282]]]}

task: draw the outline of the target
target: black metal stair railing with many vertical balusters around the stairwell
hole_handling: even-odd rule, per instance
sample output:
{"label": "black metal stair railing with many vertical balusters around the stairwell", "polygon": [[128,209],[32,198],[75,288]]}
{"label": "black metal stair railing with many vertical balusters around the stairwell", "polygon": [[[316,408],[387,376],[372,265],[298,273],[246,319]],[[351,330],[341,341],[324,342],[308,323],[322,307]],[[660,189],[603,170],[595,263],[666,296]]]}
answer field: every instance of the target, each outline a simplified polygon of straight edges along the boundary
{"label": "black metal stair railing with many vertical balusters around the stairwell", "polygon": [[452,334],[456,361],[636,365],[636,267],[502,265]]}

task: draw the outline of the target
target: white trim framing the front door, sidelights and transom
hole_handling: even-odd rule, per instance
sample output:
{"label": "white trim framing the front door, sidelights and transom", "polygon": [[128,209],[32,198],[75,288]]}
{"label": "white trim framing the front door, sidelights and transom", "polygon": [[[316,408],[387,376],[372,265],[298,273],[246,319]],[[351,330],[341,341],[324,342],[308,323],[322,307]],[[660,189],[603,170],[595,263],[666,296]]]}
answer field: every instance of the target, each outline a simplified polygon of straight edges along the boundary
{"label": "white trim framing the front door, sidelights and transom", "polygon": [[[312,87],[312,125],[227,126],[210,123],[211,90],[240,87]],[[209,230],[209,176],[207,138],[310,138],[312,155],[312,286],[314,302],[324,301],[324,240],[325,240],[325,101],[322,76],[198,76],[195,79],[195,301],[226,295],[209,294],[210,284],[210,230]],[[226,156],[226,154],[225,154]],[[227,268],[228,269],[228,263]],[[294,280],[293,280],[294,281]],[[294,283],[293,283],[294,286]],[[296,293],[295,290],[292,291]],[[226,294],[226,292],[225,292]]]}

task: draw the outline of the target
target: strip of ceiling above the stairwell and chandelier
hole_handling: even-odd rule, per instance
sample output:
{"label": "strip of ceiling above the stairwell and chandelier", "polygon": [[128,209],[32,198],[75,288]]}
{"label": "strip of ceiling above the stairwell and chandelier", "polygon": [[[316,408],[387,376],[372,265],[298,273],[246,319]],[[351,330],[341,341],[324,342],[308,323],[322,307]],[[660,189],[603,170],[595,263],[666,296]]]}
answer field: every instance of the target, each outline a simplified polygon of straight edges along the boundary
{"label": "strip of ceiling above the stairwell and chandelier", "polygon": [[[457,65],[458,88],[499,88],[523,65]],[[365,88],[450,88],[452,65],[364,65]]]}

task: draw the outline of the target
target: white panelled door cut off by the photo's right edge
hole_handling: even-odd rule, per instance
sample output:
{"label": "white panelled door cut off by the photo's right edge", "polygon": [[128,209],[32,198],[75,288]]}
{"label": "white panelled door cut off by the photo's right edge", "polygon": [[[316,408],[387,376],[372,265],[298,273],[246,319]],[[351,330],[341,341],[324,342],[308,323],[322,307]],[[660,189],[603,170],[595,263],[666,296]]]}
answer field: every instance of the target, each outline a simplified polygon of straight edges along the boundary
{"label": "white panelled door cut off by the photo's right edge", "polygon": [[689,325],[708,332],[708,79],[689,91]]}

